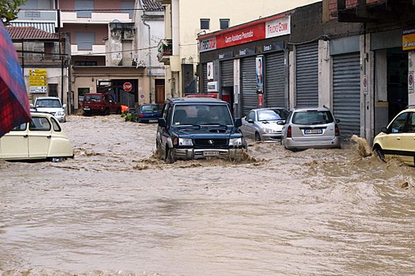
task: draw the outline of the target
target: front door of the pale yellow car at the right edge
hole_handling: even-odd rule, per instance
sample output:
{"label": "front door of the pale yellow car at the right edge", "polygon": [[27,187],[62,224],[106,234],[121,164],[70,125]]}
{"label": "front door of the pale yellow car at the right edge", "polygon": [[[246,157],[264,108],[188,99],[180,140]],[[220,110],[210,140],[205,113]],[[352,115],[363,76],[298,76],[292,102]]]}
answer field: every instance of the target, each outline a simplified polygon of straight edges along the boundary
{"label": "front door of the pale yellow car at the right edge", "polygon": [[408,114],[408,112],[401,113],[389,124],[387,137],[382,140],[382,148],[385,155],[402,157],[402,138]]}

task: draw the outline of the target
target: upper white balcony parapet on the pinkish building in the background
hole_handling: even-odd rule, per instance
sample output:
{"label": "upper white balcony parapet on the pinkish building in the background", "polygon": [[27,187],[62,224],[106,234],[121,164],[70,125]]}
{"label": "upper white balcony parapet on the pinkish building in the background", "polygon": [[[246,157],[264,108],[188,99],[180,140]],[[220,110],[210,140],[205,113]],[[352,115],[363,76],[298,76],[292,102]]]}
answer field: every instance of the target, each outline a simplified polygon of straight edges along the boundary
{"label": "upper white balcony parapet on the pinkish building in the background", "polygon": [[61,27],[65,23],[78,24],[108,24],[114,20],[121,23],[131,23],[129,14],[125,12],[91,12],[91,17],[77,17],[77,12],[61,12]]}

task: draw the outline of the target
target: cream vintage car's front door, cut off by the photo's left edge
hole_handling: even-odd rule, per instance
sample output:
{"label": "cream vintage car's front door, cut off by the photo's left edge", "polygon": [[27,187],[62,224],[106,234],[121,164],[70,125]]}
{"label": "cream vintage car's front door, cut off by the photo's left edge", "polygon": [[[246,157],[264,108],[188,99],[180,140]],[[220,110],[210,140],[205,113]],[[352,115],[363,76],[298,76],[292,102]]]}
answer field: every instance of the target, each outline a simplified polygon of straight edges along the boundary
{"label": "cream vintage car's front door, cut off by the photo's left edge", "polygon": [[0,138],[0,158],[29,158],[27,125],[28,124],[25,122]]}

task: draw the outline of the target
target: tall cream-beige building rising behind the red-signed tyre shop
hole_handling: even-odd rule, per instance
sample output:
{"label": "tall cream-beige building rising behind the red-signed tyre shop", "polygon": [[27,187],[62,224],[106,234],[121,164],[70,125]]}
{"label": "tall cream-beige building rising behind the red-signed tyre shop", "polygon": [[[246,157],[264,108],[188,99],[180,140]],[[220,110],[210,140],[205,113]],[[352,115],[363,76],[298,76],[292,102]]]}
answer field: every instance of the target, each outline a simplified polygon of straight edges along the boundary
{"label": "tall cream-beige building rising behind the red-signed tyre shop", "polygon": [[156,1],[165,5],[165,39],[159,44],[158,59],[166,65],[167,98],[196,92],[196,66],[199,63],[199,45],[196,40],[198,35],[317,2],[316,0]]}

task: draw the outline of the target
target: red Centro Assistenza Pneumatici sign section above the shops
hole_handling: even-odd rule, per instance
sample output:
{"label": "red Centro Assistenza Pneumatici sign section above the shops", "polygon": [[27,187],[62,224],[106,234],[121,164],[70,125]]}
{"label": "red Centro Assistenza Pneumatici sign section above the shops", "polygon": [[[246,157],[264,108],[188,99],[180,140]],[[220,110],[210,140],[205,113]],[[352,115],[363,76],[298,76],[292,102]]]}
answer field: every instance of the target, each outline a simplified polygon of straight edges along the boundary
{"label": "red Centro Assistenza Pneumatici sign section above the shops", "polygon": [[265,39],[264,23],[217,35],[216,48],[220,49],[247,42],[255,42],[259,39]]}

